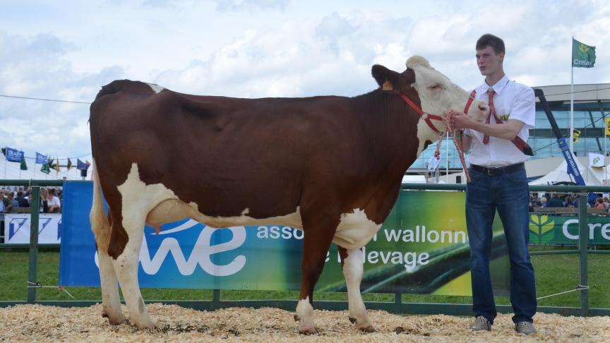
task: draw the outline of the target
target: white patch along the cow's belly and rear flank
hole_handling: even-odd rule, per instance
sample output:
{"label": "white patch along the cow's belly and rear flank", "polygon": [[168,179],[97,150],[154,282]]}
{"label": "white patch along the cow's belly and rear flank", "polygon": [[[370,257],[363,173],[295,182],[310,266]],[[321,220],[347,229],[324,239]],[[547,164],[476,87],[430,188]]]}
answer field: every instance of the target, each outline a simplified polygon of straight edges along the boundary
{"label": "white patch along the cow's belly and rear flank", "polygon": [[249,208],[241,211],[241,215],[233,217],[212,217],[201,213],[196,203],[185,203],[171,189],[161,183],[146,185],[140,180],[138,164],[131,164],[131,171],[127,180],[119,186],[122,195],[123,218],[130,222],[130,217],[136,218],[142,215],[146,223],[152,227],[160,227],[161,224],[174,222],[186,217],[201,222],[210,227],[237,227],[260,224],[275,224],[295,229],[302,229],[300,208],[288,215],[256,219],[247,216]]}

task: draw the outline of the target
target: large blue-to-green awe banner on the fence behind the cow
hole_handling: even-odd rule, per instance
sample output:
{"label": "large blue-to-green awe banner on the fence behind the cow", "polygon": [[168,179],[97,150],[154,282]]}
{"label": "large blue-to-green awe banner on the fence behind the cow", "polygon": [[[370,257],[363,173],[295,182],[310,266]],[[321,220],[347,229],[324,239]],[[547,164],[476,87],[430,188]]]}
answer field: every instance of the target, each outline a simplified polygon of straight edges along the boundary
{"label": "large blue-to-green awe banner on the fence behind the cow", "polygon": [[[64,183],[59,284],[99,286],[89,223],[92,183]],[[361,289],[369,292],[470,295],[465,193],[402,191],[383,227],[364,248]],[[508,258],[499,219],[494,224],[492,279],[508,294]],[[261,225],[214,229],[183,219],[160,234],[144,228],[140,287],[297,290],[304,234]],[[327,254],[316,290],[346,291],[337,247]]]}

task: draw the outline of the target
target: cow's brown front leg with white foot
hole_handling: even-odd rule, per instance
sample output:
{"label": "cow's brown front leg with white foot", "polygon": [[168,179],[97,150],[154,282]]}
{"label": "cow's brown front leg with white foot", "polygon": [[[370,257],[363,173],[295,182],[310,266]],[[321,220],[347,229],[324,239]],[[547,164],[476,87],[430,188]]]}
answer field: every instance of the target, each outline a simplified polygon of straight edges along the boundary
{"label": "cow's brown front leg with white foot", "polygon": [[303,220],[305,237],[303,239],[303,260],[301,261],[301,295],[297,305],[299,332],[309,335],[317,333],[313,325],[313,287],[320,278],[324,268],[326,253],[337,229],[337,220]]}

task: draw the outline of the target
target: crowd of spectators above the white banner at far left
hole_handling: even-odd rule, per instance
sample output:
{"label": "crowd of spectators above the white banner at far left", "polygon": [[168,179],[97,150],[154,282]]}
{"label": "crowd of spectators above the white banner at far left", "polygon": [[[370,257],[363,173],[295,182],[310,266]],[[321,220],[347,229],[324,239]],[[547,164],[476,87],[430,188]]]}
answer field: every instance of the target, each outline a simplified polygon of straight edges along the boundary
{"label": "crowd of spectators above the white banner at far left", "polygon": [[[61,188],[40,188],[40,212],[61,212]],[[0,188],[0,213],[16,212],[32,204],[32,188],[8,186]]]}

